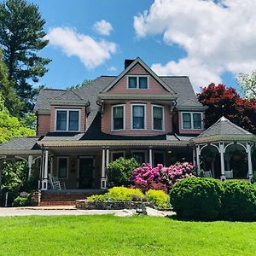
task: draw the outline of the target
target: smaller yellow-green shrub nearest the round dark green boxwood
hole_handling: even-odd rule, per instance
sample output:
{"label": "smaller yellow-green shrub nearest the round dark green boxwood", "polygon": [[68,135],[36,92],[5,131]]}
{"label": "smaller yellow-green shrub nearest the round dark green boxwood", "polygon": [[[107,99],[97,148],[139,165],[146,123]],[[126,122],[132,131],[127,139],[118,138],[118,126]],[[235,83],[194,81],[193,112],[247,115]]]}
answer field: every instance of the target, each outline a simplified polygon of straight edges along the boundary
{"label": "smaller yellow-green shrub nearest the round dark green boxwood", "polygon": [[169,196],[164,191],[149,189],[146,193],[146,199],[160,209],[170,208]]}

